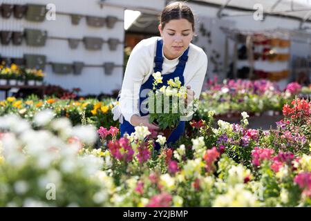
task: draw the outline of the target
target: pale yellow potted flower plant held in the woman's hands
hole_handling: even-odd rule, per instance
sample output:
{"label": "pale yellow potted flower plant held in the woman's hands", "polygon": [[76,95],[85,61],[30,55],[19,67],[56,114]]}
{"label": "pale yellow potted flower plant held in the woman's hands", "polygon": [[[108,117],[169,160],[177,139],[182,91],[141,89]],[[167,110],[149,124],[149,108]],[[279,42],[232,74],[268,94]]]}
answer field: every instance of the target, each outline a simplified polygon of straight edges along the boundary
{"label": "pale yellow potted flower plant held in the woman's hands", "polygon": [[198,100],[194,99],[194,102],[185,105],[187,88],[181,86],[179,77],[169,79],[168,86],[162,87],[156,87],[162,84],[161,73],[154,73],[153,78],[153,90],[149,91],[145,105],[150,114],[150,123],[158,124],[160,133],[168,140],[180,121],[187,120],[194,113]]}

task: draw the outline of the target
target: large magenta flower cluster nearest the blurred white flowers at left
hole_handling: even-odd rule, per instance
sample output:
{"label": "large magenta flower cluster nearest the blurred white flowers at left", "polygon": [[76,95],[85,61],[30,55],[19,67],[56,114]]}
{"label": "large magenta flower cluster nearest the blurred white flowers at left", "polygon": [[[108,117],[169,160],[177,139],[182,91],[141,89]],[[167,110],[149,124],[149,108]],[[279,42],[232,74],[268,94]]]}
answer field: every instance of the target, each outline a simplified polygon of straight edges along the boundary
{"label": "large magenta flower cluster nearest the blurred white flowers at left", "polygon": [[117,160],[126,162],[133,160],[134,151],[127,138],[122,137],[115,142],[109,141],[108,147],[111,155]]}

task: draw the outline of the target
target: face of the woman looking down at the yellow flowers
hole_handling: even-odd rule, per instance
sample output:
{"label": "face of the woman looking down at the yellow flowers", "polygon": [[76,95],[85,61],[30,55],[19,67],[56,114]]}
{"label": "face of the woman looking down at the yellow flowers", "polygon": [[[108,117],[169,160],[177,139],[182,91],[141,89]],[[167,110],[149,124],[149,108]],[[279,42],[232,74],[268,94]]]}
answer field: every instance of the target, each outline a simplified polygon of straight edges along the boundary
{"label": "face of the woman looking down at the yellow flowers", "polygon": [[182,55],[194,36],[192,25],[187,19],[174,19],[165,24],[163,30],[159,25],[163,39],[163,52],[167,59],[175,59]]}

